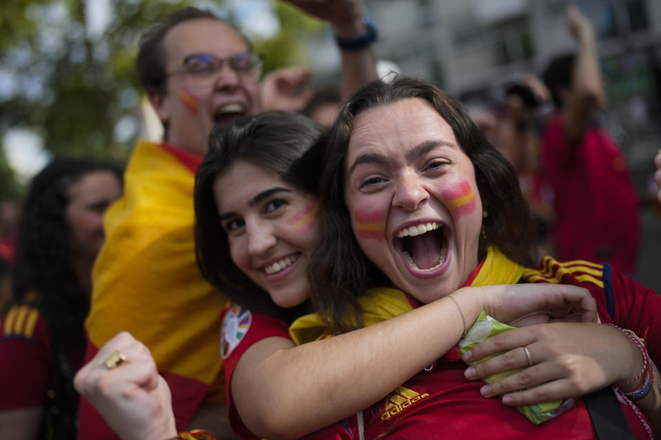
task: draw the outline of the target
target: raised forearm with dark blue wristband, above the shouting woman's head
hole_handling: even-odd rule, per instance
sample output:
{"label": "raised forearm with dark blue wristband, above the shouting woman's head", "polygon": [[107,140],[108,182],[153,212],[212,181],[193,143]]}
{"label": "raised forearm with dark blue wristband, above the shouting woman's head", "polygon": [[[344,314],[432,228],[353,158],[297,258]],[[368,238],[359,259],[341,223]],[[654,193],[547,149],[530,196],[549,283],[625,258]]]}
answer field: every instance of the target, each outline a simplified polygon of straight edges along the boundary
{"label": "raised forearm with dark blue wristband, above the shouting woman's head", "polygon": [[[333,32],[342,39],[351,39],[366,32],[365,23],[357,15],[349,23],[334,23]],[[376,80],[377,66],[372,46],[359,50],[340,50],[342,55],[342,99],[346,99],[358,89]]]}

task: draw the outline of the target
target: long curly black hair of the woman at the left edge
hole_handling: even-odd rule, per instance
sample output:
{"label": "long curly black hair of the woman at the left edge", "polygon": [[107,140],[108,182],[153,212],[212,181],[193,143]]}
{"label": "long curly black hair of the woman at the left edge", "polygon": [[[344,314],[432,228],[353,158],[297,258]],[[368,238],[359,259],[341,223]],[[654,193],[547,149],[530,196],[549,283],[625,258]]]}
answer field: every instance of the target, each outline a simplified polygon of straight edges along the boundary
{"label": "long curly black hair of the woman at the left edge", "polygon": [[[122,181],[120,166],[92,159],[54,159],[30,183],[23,202],[14,262],[14,302],[28,300],[48,324],[52,348],[51,390],[43,411],[45,437],[75,437],[78,394],[72,352],[85,355],[84,320],[90,292],[74,270],[74,236],[67,222],[70,188],[89,173],[109,171]],[[57,408],[56,416],[48,408]],[[52,417],[52,423],[45,419]],[[48,426],[44,426],[46,423]],[[50,430],[50,431],[49,431]],[[72,437],[73,432],[73,437]]]}

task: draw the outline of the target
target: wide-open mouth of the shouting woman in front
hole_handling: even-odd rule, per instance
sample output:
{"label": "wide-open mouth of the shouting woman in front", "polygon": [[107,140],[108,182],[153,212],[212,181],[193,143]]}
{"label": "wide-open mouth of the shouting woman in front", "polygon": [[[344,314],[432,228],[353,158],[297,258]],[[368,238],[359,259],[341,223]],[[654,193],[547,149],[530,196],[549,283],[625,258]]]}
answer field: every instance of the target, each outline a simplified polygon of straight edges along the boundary
{"label": "wide-open mouth of the shouting woman in front", "polygon": [[448,258],[448,228],[438,221],[408,225],[395,234],[394,244],[412,272],[429,274]]}

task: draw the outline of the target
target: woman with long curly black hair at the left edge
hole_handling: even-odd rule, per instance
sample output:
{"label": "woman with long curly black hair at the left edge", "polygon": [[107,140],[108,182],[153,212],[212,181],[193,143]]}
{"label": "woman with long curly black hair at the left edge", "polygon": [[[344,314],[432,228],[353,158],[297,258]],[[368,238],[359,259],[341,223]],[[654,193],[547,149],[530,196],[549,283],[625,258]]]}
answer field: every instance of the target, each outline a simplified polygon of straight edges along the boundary
{"label": "woman with long curly black hair at the left edge", "polygon": [[0,331],[0,437],[74,439],[74,373],[103,212],[122,191],[120,167],[54,159],[32,179],[14,263],[14,305]]}

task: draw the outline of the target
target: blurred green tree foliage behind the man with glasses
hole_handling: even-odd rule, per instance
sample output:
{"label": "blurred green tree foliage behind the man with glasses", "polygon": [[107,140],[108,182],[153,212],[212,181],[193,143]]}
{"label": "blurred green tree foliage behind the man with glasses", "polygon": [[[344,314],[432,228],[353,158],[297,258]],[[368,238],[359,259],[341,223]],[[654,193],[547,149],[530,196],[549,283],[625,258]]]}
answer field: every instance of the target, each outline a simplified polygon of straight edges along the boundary
{"label": "blurred green tree foliage behind the man with glasses", "polygon": [[[95,32],[92,0],[4,0],[0,5],[0,136],[30,129],[54,155],[127,158],[140,127],[134,61],[140,34],[186,0],[109,0],[109,24]],[[218,0],[214,5],[221,5]],[[281,31],[255,41],[265,69],[298,63],[298,41],[318,23],[277,3]],[[97,14],[98,15],[98,14]],[[4,162],[3,162],[4,163]],[[14,185],[0,173],[2,188]],[[0,194],[1,197],[2,194]]]}

